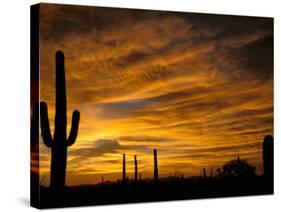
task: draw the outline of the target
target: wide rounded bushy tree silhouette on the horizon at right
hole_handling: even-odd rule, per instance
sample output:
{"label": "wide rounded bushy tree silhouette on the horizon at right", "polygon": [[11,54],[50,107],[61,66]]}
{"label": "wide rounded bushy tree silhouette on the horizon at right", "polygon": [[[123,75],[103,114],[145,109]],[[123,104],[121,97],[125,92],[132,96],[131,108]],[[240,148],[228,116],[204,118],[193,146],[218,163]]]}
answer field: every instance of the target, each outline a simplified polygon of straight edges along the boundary
{"label": "wide rounded bushy tree silhouette on the horizon at right", "polygon": [[236,160],[227,162],[222,169],[217,169],[218,177],[250,177],[255,176],[256,168],[251,166],[247,160]]}

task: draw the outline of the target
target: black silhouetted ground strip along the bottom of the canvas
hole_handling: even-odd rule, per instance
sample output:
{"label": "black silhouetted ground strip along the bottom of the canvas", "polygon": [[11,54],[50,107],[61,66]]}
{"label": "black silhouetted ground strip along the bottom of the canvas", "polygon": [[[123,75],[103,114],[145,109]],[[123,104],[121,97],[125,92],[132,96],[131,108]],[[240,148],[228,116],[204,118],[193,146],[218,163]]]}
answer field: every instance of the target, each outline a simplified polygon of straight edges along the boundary
{"label": "black silhouetted ground strip along the bottom of the canvas", "polygon": [[40,208],[140,203],[216,197],[272,194],[263,176],[252,177],[168,177],[134,180],[124,183],[100,183],[96,185],[65,187],[63,193],[52,192],[41,186]]}

